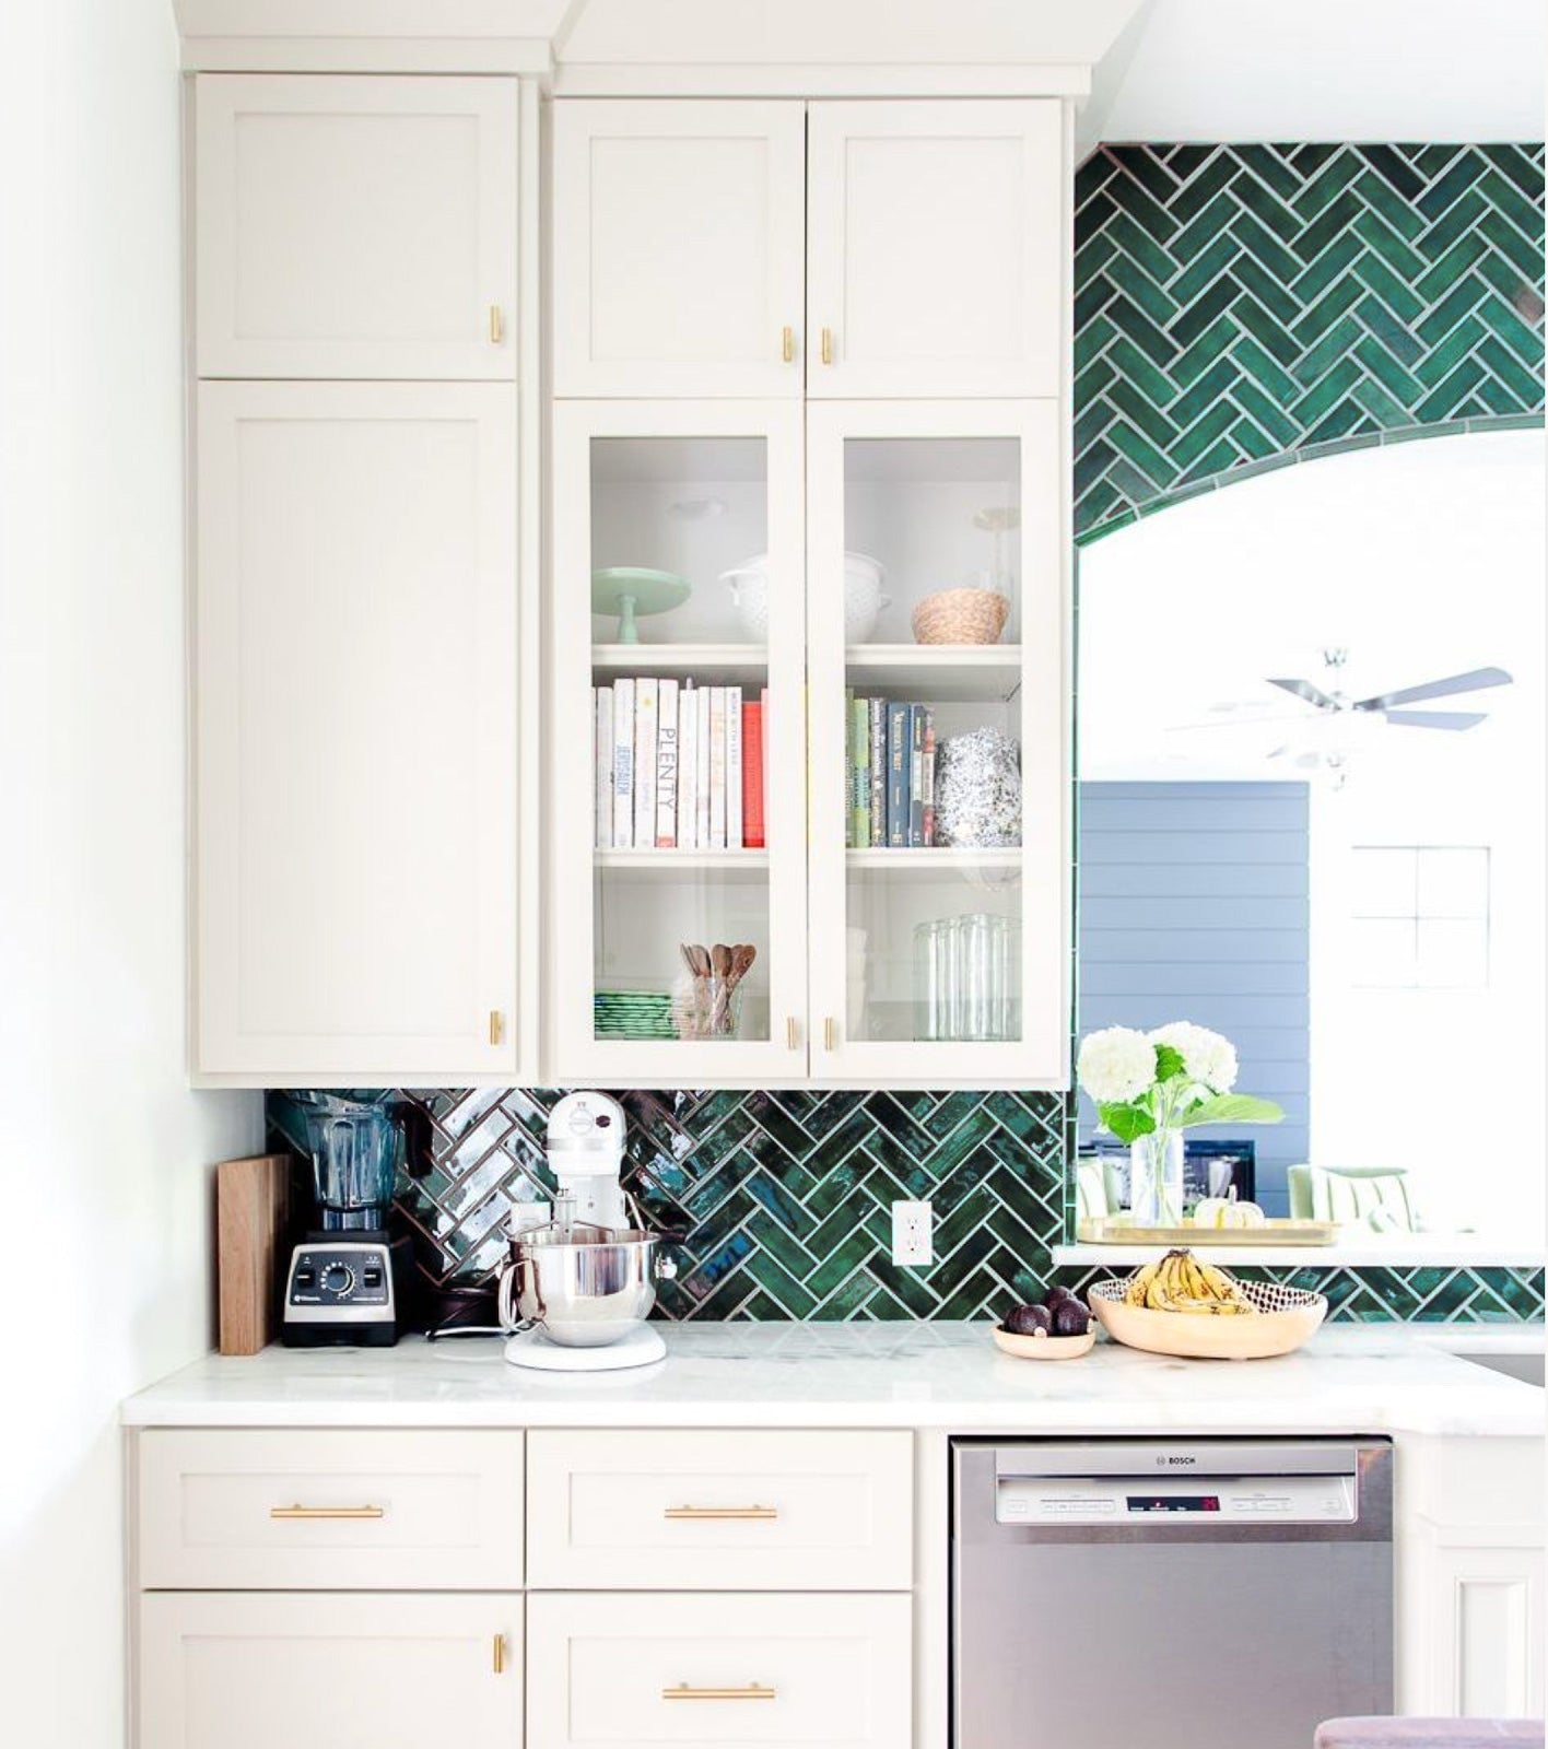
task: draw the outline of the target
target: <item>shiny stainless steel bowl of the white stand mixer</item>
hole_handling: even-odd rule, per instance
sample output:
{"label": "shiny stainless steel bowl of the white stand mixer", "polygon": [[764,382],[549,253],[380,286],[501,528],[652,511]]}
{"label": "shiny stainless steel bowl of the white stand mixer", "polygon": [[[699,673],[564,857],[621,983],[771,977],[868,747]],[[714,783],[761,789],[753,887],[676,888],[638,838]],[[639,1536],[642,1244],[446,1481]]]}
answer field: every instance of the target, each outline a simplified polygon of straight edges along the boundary
{"label": "shiny stainless steel bowl of the white stand mixer", "polygon": [[502,1282],[523,1324],[542,1324],[565,1348],[602,1348],[645,1320],[656,1303],[656,1235],[626,1228],[603,1244],[575,1244],[544,1231],[511,1245]]}

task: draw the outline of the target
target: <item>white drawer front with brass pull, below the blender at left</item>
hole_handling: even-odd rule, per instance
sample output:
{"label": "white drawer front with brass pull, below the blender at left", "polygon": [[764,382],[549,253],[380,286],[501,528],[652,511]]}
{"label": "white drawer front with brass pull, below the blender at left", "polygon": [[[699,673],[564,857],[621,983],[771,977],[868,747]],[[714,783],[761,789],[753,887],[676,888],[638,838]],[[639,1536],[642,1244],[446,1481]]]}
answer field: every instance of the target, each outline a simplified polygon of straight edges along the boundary
{"label": "white drawer front with brass pull, below the blender at left", "polygon": [[519,1432],[150,1431],[147,1590],[521,1585]]}

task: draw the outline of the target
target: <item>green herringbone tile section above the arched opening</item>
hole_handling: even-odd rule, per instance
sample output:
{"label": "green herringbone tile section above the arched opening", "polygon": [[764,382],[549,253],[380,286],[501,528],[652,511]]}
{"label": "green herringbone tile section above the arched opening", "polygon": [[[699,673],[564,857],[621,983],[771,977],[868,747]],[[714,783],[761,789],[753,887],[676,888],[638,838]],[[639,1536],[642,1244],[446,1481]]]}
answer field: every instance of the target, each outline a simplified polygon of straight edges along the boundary
{"label": "green herringbone tile section above the arched opening", "polygon": [[1541,145],[1114,145],[1076,177],[1076,532],[1543,413]]}

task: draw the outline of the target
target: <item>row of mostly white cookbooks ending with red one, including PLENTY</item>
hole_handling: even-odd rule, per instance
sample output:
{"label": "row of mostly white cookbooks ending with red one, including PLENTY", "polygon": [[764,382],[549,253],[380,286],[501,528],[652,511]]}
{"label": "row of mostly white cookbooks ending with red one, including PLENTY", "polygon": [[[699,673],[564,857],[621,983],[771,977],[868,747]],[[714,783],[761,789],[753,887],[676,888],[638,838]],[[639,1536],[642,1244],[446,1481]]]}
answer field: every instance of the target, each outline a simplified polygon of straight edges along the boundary
{"label": "row of mostly white cookbooks ending with red one, including PLENTY", "polygon": [[591,687],[598,850],[763,850],[768,687]]}

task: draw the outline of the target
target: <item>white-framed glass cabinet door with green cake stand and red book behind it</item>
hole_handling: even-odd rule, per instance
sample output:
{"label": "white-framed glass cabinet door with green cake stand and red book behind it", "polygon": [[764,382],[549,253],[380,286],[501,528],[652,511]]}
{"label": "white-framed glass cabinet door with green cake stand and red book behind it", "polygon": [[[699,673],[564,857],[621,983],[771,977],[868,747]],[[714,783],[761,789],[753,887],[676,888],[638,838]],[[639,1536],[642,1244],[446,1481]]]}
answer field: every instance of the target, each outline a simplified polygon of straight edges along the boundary
{"label": "white-framed glass cabinet door with green cake stand and red book behind it", "polygon": [[801,408],[554,408],[549,1060],[806,1074]]}

